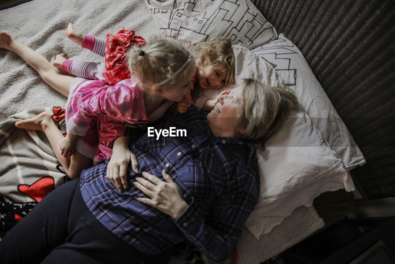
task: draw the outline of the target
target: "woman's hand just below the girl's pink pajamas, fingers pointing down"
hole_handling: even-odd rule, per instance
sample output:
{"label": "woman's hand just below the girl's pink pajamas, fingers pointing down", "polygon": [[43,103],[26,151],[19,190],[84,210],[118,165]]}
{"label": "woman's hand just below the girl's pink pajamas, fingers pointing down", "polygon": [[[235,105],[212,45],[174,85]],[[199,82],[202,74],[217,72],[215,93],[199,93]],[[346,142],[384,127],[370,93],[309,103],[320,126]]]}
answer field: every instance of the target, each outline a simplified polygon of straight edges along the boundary
{"label": "woman's hand just below the girl's pink pajamas, fingers pointing down", "polygon": [[114,141],[113,156],[107,165],[107,179],[122,193],[128,188],[126,169],[132,163],[135,173],[139,172],[136,156],[128,149],[128,136],[118,137]]}

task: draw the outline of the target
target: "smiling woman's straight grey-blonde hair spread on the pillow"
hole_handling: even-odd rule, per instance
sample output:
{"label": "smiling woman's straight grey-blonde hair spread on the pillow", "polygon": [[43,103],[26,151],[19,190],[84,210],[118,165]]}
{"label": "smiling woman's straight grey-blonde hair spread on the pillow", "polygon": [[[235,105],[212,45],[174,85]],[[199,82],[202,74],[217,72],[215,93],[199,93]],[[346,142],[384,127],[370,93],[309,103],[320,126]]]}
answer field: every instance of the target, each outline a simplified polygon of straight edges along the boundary
{"label": "smiling woman's straight grey-blonde hair spread on the pillow", "polygon": [[253,79],[246,79],[241,85],[244,101],[243,118],[239,118],[245,133],[241,140],[267,139],[292,110],[299,109],[295,93],[286,87],[271,87]]}

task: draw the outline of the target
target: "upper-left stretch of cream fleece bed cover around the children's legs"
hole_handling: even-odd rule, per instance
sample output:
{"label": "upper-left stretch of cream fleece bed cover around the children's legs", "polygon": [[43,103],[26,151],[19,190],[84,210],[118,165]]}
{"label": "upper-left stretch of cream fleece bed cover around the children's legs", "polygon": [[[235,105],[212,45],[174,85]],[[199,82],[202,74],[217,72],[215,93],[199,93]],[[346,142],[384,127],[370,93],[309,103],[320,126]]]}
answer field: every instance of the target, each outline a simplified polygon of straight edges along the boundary
{"label": "upper-left stretch of cream fleece bed cover around the children's legs", "polygon": [[[66,37],[68,23],[81,33],[103,38],[122,27],[144,38],[160,35],[143,0],[34,0],[0,11],[0,30],[7,30],[49,61],[62,52],[70,59],[102,61]],[[0,94],[0,121],[28,108],[66,103],[66,97],[5,49],[0,49]]]}

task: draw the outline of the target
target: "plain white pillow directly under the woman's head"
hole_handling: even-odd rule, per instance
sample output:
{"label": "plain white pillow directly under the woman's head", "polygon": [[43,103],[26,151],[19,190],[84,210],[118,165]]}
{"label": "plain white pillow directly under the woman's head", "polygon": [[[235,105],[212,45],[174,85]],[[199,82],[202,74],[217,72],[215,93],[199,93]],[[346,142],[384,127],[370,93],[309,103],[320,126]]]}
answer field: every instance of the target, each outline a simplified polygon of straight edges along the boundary
{"label": "plain white pillow directly under the woman's head", "polygon": [[[245,78],[277,86],[285,85],[267,63],[252,51],[233,46],[236,57],[236,82]],[[298,98],[299,99],[299,98]],[[280,224],[284,217],[328,190],[354,190],[343,161],[322,138],[320,131],[303,111],[294,112],[257,150],[261,189],[258,203],[246,222],[259,238]]]}

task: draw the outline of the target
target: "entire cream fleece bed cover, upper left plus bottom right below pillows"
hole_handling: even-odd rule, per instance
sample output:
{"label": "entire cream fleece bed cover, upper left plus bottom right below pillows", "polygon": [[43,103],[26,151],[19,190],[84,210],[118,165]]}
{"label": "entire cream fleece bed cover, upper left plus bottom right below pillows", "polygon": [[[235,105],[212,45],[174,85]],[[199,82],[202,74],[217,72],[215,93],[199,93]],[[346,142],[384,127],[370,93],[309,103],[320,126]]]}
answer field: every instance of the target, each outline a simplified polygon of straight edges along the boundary
{"label": "entire cream fleece bed cover, upper left plus bottom right below pillows", "polygon": [[[49,61],[62,52],[70,59],[102,61],[66,37],[68,23],[73,23],[79,32],[101,37],[122,27],[133,29],[146,39],[160,35],[143,0],[34,0],[0,11],[0,30],[7,30]],[[64,107],[65,103],[66,97],[45,84],[16,54],[0,49],[0,121],[30,108]],[[301,207],[259,241],[245,229],[238,245],[238,263],[258,264],[322,226],[314,208]]]}

